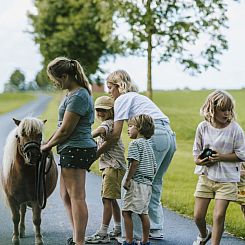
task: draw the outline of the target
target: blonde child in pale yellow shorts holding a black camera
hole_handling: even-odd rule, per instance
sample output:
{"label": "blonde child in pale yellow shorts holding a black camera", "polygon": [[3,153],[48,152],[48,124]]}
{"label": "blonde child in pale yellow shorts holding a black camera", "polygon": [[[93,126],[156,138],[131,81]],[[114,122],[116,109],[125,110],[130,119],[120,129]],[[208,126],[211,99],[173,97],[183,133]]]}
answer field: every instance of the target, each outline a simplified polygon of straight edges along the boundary
{"label": "blonde child in pale yellow shorts holding a black camera", "polygon": [[[195,174],[199,175],[194,218],[200,234],[193,245],[206,244],[210,238],[212,245],[218,245],[229,202],[237,199],[241,161],[245,160],[245,137],[234,120],[234,102],[227,92],[211,93],[201,114],[205,120],[197,127],[193,146]],[[211,199],[215,199],[212,233],[205,220]]]}

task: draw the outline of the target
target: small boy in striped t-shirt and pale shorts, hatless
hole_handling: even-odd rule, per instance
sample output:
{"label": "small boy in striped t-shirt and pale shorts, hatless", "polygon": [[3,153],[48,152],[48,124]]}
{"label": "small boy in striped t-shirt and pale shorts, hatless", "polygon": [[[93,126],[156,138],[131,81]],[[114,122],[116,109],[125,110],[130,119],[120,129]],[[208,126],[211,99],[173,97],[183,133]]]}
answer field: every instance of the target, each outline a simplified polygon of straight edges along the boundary
{"label": "small boy in striped t-shirt and pale shorts, hatless", "polygon": [[142,222],[143,235],[140,244],[150,244],[148,205],[156,172],[156,160],[148,139],[153,133],[154,122],[148,115],[135,116],[128,121],[128,135],[134,140],[129,144],[129,165],[123,184],[126,189],[122,205],[126,231],[126,241],[123,245],[136,244],[133,241],[132,213],[138,214]]}

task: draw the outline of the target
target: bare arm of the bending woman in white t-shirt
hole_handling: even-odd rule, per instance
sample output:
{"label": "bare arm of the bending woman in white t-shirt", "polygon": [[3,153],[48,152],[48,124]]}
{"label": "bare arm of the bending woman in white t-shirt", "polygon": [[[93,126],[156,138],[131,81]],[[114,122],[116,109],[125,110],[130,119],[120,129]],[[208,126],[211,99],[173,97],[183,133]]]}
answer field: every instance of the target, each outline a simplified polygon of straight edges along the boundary
{"label": "bare arm of the bending woman in white t-shirt", "polygon": [[109,150],[110,147],[113,146],[120,139],[122,128],[123,128],[123,122],[124,121],[121,120],[121,121],[116,121],[114,123],[113,131],[112,131],[110,138],[108,138],[97,151],[97,158],[101,154]]}

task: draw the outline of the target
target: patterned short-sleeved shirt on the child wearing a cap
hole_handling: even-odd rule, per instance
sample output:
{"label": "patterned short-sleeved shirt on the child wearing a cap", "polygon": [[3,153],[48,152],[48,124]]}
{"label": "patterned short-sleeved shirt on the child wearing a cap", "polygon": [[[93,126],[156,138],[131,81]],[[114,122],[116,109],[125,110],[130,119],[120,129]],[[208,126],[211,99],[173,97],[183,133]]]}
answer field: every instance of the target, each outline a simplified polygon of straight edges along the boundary
{"label": "patterned short-sleeved shirt on the child wearing a cap", "polygon": [[[99,127],[105,129],[105,135],[98,137],[98,147],[105,142],[107,137],[110,137],[113,130],[113,120],[109,119],[101,123]],[[99,168],[100,170],[105,169],[107,167],[126,169],[126,161],[124,157],[124,145],[122,143],[122,139],[120,138],[111,148],[102,154],[99,159]]]}

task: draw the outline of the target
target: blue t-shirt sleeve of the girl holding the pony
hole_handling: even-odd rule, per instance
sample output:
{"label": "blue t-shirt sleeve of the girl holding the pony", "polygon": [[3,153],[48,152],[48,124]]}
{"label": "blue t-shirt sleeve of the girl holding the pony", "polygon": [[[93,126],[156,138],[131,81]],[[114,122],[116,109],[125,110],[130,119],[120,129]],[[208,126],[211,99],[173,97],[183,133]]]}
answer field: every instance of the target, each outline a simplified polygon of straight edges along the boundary
{"label": "blue t-shirt sleeve of the girl holding the pony", "polygon": [[85,94],[84,96],[73,95],[67,101],[66,110],[84,116],[88,111],[88,107],[89,101]]}

